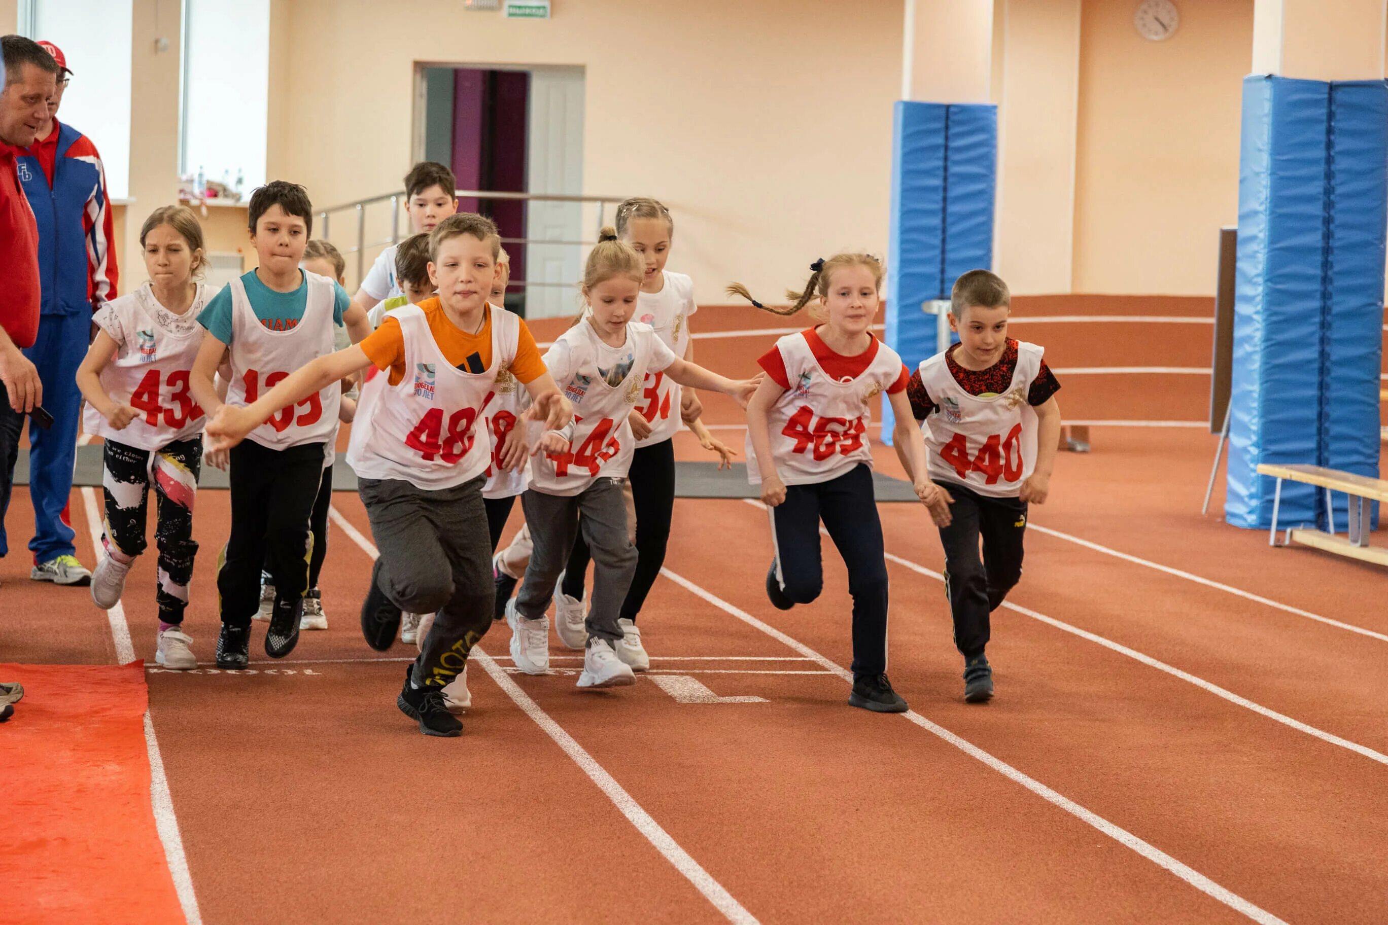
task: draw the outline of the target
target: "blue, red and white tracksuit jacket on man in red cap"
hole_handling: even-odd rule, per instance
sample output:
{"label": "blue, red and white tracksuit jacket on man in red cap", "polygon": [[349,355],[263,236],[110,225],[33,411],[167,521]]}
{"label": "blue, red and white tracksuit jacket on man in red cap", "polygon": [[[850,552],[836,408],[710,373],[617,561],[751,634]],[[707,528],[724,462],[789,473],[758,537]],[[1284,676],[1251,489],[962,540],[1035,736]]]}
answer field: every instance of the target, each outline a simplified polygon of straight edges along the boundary
{"label": "blue, red and white tracksuit jacket on man in red cap", "polygon": [[105,169],[89,137],[56,125],[51,186],[39,154],[44,141],[35,141],[17,158],[19,182],[39,225],[39,313],[90,316],[117,295]]}

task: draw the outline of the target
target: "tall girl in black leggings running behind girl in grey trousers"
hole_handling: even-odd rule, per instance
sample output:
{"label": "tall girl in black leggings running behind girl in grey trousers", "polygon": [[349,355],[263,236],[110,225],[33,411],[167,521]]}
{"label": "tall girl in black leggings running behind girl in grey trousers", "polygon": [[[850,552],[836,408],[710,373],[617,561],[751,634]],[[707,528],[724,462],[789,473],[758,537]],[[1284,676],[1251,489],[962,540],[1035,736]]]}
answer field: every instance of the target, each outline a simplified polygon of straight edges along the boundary
{"label": "tall girl in black leggings running behind girl in grey trousers", "polygon": [[[661,341],[686,361],[693,361],[690,319],[698,311],[694,304],[694,283],[684,273],[665,269],[675,237],[670,211],[652,198],[630,198],[616,209],[618,237],[630,244],[645,262],[641,294],[637,298],[636,320],[655,329]],[[643,383],[641,399],[632,409],[629,420],[636,445],[625,491],[627,513],[634,520],[636,573],[632,588],[622,602],[618,623],[623,630],[616,652],[636,671],[645,671],[651,659],[641,643],[641,630],[636,617],[645,603],[655,578],[665,564],[665,549],[670,538],[670,519],[675,513],[675,433],[684,423],[698,435],[705,449],[719,453],[719,467],[731,466],[731,452],[715,440],[698,420],[702,406],[693,390],[680,390],[663,372],[648,372]],[[507,556],[514,559],[515,556]],[[504,562],[497,560],[497,574],[502,576]],[[584,578],[589,569],[589,546],[582,531],[573,542],[559,585],[554,591],[554,619],[559,639],[572,649],[583,648],[586,612]],[[509,598],[515,581],[501,581],[498,595]]]}

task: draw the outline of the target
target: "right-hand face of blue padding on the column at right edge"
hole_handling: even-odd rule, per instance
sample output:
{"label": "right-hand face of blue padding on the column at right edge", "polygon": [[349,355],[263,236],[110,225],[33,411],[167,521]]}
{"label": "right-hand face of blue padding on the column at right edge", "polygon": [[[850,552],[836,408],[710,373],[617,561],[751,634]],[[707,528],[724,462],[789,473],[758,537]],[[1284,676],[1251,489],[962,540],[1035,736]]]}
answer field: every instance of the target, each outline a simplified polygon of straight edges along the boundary
{"label": "right-hand face of blue padding on the column at right edge", "polygon": [[[1320,465],[1377,478],[1388,237],[1388,86],[1382,80],[1331,85],[1328,168]],[[1344,531],[1349,499],[1334,498],[1335,528]]]}

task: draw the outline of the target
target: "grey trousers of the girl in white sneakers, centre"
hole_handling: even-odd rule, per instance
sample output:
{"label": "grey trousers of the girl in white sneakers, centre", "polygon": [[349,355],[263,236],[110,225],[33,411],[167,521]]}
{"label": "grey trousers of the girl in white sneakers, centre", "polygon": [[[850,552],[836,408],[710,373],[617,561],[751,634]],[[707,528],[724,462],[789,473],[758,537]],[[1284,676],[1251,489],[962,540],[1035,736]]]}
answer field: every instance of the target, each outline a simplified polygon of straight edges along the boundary
{"label": "grey trousers of the girl in white sneakers, centre", "polygon": [[[616,642],[622,638],[618,614],[636,573],[636,546],[626,530],[622,478],[598,478],[576,495],[545,495],[533,488],[520,496],[530,527],[530,564],[516,595],[516,613],[536,620],[544,616],[554,582],[569,562],[573,539],[583,524],[583,539],[593,551],[593,591],[589,595],[589,638]],[[583,515],[580,521],[579,515]]]}

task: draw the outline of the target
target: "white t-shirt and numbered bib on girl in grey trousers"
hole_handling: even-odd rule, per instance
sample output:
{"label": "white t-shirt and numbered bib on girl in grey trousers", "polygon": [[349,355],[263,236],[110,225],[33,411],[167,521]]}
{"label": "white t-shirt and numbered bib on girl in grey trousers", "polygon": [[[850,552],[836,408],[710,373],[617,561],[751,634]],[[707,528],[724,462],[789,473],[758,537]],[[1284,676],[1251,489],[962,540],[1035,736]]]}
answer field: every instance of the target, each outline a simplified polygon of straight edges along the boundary
{"label": "white t-shirt and numbered bib on girl in grey trousers", "polygon": [[532,458],[530,487],[547,495],[576,495],[595,478],[625,478],[632,466],[632,423],[647,373],[676,359],[650,325],[627,322],[620,347],[604,344],[593,325],[579,322],[544,355],[564,397],[573,404],[569,452]]}

